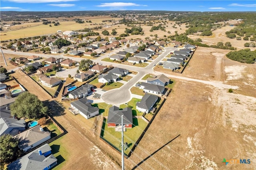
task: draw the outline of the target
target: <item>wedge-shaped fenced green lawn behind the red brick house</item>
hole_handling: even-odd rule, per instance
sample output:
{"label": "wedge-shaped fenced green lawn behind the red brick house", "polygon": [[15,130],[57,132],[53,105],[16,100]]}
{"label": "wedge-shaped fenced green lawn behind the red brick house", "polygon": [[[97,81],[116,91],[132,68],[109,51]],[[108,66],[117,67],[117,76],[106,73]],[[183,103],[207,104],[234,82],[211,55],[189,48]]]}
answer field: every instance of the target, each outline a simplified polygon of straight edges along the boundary
{"label": "wedge-shaped fenced green lawn behind the red brick house", "polygon": [[[108,120],[106,120],[106,122],[107,121]],[[130,149],[132,148],[136,140],[139,138],[142,131],[147,126],[147,123],[142,119],[135,118],[135,119],[132,119],[132,121],[134,124],[133,127],[126,128],[126,132],[124,132],[124,142],[127,142],[129,144],[129,149],[124,151],[125,154],[128,154],[130,152]],[[121,150],[121,147],[119,147],[121,137],[122,137],[121,132],[116,132],[114,127],[108,128],[107,123],[104,123],[103,128],[104,128],[103,137]]]}

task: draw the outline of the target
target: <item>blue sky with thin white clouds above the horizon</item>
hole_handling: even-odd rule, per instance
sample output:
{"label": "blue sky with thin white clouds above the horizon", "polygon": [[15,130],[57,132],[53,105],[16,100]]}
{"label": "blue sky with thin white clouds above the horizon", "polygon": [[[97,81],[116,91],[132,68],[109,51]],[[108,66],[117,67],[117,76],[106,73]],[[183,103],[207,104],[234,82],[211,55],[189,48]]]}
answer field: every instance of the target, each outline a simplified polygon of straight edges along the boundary
{"label": "blue sky with thin white clouds above the horizon", "polygon": [[256,11],[256,0],[0,0],[0,11]]}

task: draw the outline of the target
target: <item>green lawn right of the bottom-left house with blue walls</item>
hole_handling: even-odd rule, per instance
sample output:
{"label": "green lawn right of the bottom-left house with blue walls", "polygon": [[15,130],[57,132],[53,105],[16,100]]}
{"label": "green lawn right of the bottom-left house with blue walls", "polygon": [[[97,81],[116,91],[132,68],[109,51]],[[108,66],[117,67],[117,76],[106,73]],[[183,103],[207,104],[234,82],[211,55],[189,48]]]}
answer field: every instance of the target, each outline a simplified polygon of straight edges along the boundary
{"label": "green lawn right of the bottom-left house with blue walls", "polygon": [[68,152],[68,146],[65,146],[64,136],[54,140],[49,145],[52,148],[52,154],[57,158],[57,165],[52,170],[63,170],[65,169],[65,160],[68,160],[70,153]]}

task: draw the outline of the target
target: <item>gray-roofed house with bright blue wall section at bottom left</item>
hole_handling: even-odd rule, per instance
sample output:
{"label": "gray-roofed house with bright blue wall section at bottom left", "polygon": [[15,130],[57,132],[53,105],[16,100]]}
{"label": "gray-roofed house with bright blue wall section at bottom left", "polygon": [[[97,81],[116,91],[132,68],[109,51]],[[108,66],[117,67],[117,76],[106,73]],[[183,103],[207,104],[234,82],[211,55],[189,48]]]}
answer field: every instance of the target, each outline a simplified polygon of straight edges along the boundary
{"label": "gray-roofed house with bright blue wall section at bottom left", "polygon": [[7,168],[9,170],[49,170],[55,165],[57,165],[57,158],[53,156],[49,144],[44,144],[10,163]]}

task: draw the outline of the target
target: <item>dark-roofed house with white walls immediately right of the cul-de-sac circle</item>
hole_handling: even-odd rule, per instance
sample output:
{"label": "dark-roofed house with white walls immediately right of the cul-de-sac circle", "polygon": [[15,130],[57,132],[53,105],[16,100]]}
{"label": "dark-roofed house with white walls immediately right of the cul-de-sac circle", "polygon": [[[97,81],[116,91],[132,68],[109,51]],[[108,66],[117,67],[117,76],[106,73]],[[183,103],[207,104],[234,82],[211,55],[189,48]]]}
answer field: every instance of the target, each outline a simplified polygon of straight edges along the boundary
{"label": "dark-roofed house with white walls immediately right of the cul-de-sac circle", "polygon": [[158,97],[156,95],[146,93],[141,101],[136,103],[136,109],[142,113],[149,113],[157,100]]}

